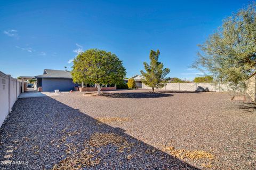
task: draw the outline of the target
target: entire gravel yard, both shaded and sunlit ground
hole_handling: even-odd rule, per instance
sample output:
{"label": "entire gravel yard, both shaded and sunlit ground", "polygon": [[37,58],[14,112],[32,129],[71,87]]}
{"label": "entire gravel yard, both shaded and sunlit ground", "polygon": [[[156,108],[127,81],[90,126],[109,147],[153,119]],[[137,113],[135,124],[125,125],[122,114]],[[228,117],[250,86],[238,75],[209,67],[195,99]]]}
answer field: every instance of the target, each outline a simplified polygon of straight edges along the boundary
{"label": "entire gravel yard, both shaded and sunlit ground", "polygon": [[255,104],[148,91],[19,99],[1,127],[0,168],[256,169]]}

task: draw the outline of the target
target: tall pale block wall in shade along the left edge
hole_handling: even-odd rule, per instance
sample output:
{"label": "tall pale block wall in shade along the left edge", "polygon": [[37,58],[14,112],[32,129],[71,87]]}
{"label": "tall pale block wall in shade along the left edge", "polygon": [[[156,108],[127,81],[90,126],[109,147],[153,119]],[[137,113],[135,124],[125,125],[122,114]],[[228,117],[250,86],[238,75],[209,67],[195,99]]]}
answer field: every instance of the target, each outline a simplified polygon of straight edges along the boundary
{"label": "tall pale block wall in shade along the left edge", "polygon": [[21,93],[21,82],[0,71],[0,126]]}

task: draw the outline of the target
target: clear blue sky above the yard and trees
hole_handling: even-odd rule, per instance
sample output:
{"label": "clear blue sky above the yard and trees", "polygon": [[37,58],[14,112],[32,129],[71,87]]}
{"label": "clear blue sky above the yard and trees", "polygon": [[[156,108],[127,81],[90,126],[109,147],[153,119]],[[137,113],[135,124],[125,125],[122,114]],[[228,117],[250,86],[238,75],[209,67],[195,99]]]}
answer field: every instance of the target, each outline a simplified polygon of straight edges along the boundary
{"label": "clear blue sky above the yard and trees", "polygon": [[0,1],[0,70],[18,76],[71,70],[76,52],[99,48],[140,74],[150,50],[170,77],[193,79],[189,66],[222,19],[248,1]]}

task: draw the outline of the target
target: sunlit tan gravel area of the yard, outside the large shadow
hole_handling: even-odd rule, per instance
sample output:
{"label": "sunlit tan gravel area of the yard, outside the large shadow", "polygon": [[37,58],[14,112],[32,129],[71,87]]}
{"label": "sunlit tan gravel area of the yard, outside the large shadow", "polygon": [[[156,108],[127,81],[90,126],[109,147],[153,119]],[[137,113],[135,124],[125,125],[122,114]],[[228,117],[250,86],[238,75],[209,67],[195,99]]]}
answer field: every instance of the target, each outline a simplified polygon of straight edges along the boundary
{"label": "sunlit tan gravel area of the yard, outside the large shadow", "polygon": [[214,155],[211,163],[208,159],[183,157],[182,160],[198,168],[255,167],[256,112],[250,102],[231,101],[228,94],[214,92],[154,94],[150,90],[129,90],[110,93],[115,94],[86,101],[79,100],[79,94],[74,97],[81,101],[79,109],[92,117],[132,118],[132,122],[122,125],[107,124],[122,128],[127,134],[170,155],[172,153],[159,143],[171,143],[175,149],[183,151],[181,155],[195,151]]}

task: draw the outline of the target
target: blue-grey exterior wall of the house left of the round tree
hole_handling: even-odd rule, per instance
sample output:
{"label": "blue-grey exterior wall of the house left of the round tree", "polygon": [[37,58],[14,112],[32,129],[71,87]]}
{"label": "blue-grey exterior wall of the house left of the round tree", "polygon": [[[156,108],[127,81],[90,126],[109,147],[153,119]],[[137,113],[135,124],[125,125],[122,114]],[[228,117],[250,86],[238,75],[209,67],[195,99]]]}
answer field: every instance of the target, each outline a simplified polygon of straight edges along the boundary
{"label": "blue-grey exterior wall of the house left of the round tree", "polygon": [[54,90],[70,91],[74,90],[75,86],[77,84],[68,78],[42,78],[43,92]]}

